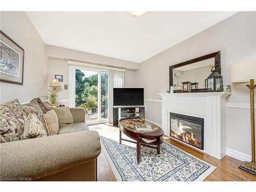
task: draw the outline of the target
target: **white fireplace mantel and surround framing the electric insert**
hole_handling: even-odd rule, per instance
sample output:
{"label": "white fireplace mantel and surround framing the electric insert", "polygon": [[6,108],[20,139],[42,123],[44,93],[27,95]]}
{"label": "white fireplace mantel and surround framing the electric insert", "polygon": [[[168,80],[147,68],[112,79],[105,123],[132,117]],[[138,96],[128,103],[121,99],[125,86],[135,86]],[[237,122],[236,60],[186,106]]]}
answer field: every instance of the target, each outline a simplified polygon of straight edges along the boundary
{"label": "white fireplace mantel and surround framing the electric insert", "polygon": [[223,158],[226,155],[226,97],[230,94],[227,92],[160,93],[164,134],[170,136],[170,113],[203,118],[203,152],[217,159]]}

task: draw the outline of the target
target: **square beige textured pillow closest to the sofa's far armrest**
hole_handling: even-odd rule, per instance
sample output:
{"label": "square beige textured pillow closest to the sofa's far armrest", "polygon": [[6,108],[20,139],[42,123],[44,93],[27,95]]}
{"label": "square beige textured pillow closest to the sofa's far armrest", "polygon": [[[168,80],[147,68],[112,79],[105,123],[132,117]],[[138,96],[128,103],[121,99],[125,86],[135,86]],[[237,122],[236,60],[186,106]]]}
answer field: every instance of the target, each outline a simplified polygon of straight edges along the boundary
{"label": "square beige textured pillow closest to the sofa's far armrest", "polygon": [[53,110],[56,112],[56,114],[58,116],[60,127],[65,124],[74,123],[74,119],[70,112],[69,106],[63,106],[61,108],[54,108]]}

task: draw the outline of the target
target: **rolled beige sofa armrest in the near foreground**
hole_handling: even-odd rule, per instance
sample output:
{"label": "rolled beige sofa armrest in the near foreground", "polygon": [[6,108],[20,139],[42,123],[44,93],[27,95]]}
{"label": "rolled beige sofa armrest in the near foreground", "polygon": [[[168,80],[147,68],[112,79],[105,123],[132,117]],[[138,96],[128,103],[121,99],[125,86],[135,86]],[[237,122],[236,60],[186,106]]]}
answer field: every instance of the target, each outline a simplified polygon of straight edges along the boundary
{"label": "rolled beige sofa armrest in the near foreground", "polygon": [[99,134],[82,131],[0,144],[0,180],[36,180],[90,162],[100,152]]}

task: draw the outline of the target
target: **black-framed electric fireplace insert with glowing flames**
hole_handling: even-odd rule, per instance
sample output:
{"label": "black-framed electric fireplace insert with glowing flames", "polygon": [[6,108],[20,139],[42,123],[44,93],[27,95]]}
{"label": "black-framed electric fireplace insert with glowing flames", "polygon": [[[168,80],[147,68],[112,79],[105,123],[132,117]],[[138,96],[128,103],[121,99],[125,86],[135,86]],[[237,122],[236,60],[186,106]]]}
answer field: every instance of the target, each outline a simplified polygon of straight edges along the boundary
{"label": "black-framed electric fireplace insert with glowing flames", "polygon": [[204,119],[170,113],[170,136],[204,150]]}

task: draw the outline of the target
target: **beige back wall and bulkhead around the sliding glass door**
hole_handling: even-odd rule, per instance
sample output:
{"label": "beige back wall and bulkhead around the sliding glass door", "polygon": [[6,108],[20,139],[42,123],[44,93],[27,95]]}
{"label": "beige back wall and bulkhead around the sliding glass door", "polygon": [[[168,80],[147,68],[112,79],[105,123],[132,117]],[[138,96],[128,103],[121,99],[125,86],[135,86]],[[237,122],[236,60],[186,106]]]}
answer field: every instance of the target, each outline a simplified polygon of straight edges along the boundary
{"label": "beige back wall and bulkhead around the sliding glass door", "polygon": [[[64,90],[64,84],[68,84],[69,86],[69,59],[83,62],[88,62],[90,60],[91,63],[100,63],[103,66],[124,68],[126,70],[125,87],[127,88],[133,87],[135,83],[136,73],[135,71],[132,71],[130,69],[139,69],[139,64],[135,62],[124,61],[120,59],[70,50],[66,48],[46,45],[46,52],[49,56],[47,85],[50,85],[51,79],[54,78],[55,74],[63,75],[63,82],[60,82],[61,88],[57,88],[58,104],[69,104],[69,90]],[[48,89],[51,88],[48,87]]]}

